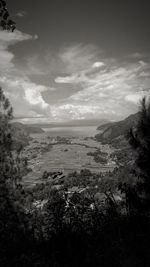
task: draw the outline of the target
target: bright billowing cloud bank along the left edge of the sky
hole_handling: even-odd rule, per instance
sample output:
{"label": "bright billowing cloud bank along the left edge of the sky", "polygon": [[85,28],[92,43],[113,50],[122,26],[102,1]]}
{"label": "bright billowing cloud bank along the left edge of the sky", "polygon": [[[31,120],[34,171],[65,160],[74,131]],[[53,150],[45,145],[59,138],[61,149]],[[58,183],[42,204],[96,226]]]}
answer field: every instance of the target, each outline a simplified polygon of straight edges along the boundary
{"label": "bright billowing cloud bank along the left edge of the sky", "polygon": [[15,116],[50,116],[50,107],[43,93],[54,88],[32,82],[17,69],[13,62],[15,55],[9,51],[11,45],[36,39],[37,35],[31,36],[18,30],[14,33],[0,32],[0,84],[14,107]]}

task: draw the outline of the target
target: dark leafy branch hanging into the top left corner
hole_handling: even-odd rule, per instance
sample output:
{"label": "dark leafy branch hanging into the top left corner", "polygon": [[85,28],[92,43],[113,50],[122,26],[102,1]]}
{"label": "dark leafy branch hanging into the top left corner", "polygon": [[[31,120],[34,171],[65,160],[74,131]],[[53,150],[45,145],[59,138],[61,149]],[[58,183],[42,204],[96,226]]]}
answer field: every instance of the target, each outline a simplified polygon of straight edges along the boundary
{"label": "dark leafy branch hanging into the top left corner", "polygon": [[15,24],[16,23],[10,19],[6,1],[0,0],[0,26],[3,30],[10,30],[13,32],[16,28]]}

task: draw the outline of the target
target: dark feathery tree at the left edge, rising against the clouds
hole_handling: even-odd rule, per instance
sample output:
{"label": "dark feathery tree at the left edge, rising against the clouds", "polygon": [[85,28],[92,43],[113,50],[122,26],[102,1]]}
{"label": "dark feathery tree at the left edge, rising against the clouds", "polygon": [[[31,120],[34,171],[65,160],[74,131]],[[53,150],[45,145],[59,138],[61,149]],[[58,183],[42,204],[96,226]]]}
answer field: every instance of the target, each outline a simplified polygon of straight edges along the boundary
{"label": "dark feathery tree at the left edge, rising against the clouds", "polygon": [[22,146],[14,146],[12,119],[13,109],[0,88],[0,181],[16,189],[27,161],[20,156]]}

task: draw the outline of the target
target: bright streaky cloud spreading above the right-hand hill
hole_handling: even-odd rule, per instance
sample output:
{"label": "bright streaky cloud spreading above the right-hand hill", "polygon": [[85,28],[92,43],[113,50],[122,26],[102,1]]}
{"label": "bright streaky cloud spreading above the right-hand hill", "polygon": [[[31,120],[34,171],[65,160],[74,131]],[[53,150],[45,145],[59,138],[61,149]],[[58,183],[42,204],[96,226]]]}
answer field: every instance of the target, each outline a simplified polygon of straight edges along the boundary
{"label": "bright streaky cloud spreading above the right-hand hill", "polygon": [[[106,72],[98,72],[94,77],[86,80],[84,88],[73,94],[70,98],[74,101],[90,102],[103,104],[120,101],[124,105],[124,100],[128,101],[128,95],[142,91],[145,87],[145,80],[139,78],[139,73],[143,72],[144,65],[126,65],[126,67],[112,67]],[[150,85],[150,79],[147,83]],[[135,101],[136,103],[136,101]],[[113,105],[111,103],[112,109]]]}

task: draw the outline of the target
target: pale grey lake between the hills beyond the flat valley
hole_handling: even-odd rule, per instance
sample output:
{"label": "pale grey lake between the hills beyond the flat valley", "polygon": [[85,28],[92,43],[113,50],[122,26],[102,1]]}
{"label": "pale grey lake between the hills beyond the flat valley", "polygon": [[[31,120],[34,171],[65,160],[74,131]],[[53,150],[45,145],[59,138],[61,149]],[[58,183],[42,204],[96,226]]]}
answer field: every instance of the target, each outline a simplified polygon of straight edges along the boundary
{"label": "pale grey lake between the hills beyond the flat valley", "polygon": [[99,133],[96,126],[54,127],[43,130],[52,137],[91,137]]}

